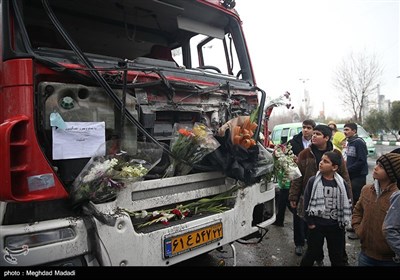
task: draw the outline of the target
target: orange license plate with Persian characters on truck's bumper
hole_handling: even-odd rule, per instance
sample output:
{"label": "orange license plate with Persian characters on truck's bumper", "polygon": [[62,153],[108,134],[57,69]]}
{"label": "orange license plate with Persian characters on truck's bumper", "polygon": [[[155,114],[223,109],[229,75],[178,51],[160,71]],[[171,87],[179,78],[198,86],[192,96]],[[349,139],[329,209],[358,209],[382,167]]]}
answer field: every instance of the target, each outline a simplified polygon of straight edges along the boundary
{"label": "orange license plate with Persian characters on truck's bumper", "polygon": [[200,246],[218,241],[223,237],[222,223],[212,224],[200,229],[168,236],[164,239],[164,257],[170,258]]}

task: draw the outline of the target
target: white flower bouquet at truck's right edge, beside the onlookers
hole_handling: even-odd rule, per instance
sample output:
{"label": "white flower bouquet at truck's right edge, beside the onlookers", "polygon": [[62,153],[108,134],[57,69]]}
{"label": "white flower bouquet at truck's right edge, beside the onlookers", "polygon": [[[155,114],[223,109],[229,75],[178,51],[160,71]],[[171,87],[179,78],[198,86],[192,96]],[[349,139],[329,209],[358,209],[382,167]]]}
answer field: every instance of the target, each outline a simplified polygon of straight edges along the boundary
{"label": "white flower bouquet at truck's right edge, beside the onlookers", "polygon": [[296,155],[292,146],[276,145],[274,152],[274,173],[280,188],[288,188],[290,181],[301,176],[299,167],[296,164]]}

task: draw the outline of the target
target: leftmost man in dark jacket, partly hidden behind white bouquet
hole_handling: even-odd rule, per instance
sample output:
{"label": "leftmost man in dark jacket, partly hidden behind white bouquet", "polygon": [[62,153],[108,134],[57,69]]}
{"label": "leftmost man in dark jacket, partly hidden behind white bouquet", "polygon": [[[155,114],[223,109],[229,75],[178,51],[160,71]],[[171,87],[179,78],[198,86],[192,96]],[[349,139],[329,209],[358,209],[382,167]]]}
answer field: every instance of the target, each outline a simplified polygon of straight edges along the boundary
{"label": "leftmost man in dark jacket, partly hidden behind white bouquet", "polygon": [[[291,145],[292,151],[296,155],[296,157],[304,148],[307,148],[311,144],[311,137],[315,125],[316,124],[314,120],[304,120],[302,123],[301,132],[293,136],[293,138],[286,143]],[[276,214],[274,225],[283,226],[283,220],[285,219],[285,210],[286,207],[289,207],[290,211],[293,213],[293,237],[294,244],[296,246],[295,254],[301,256],[303,254],[303,247],[305,245],[307,228],[304,220],[297,215],[296,209],[290,207],[288,196],[289,189],[280,188],[278,211]]]}

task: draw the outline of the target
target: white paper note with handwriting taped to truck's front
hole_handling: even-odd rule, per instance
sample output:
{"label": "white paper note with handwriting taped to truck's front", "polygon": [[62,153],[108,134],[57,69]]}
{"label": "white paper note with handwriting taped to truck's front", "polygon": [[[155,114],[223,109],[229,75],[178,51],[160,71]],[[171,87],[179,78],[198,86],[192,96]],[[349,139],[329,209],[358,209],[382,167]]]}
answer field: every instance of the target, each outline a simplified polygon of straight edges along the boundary
{"label": "white paper note with handwriting taped to truck's front", "polygon": [[65,130],[53,127],[53,159],[105,155],[105,122],[66,122],[66,125]]}

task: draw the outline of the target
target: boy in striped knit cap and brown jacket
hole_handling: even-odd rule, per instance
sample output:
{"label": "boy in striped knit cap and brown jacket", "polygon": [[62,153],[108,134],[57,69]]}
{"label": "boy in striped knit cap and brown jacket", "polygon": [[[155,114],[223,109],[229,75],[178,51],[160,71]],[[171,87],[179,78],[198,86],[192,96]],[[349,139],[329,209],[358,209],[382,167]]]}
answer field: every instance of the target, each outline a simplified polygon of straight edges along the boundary
{"label": "boy in striped knit cap and brown jacket", "polygon": [[358,265],[400,266],[400,262],[395,261],[395,252],[385,239],[383,225],[390,206],[390,197],[398,191],[400,154],[387,153],[380,156],[376,161],[372,177],[374,183],[362,188],[351,221],[361,242]]}

